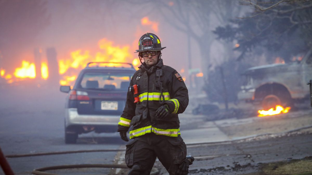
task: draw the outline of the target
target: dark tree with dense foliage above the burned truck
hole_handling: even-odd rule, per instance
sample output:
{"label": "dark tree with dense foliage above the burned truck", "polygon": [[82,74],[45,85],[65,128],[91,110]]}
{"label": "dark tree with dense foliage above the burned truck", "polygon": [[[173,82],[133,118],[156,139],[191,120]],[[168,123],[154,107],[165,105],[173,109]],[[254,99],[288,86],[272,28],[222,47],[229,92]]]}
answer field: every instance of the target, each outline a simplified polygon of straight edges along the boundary
{"label": "dark tree with dense foliage above the burned truck", "polygon": [[[266,58],[283,58],[286,62],[293,56],[303,54],[312,46],[312,0],[240,0],[254,11],[232,25],[217,27],[219,39],[237,40],[236,50],[241,51],[238,60],[255,48],[265,49]],[[260,53],[262,54],[262,53]]]}

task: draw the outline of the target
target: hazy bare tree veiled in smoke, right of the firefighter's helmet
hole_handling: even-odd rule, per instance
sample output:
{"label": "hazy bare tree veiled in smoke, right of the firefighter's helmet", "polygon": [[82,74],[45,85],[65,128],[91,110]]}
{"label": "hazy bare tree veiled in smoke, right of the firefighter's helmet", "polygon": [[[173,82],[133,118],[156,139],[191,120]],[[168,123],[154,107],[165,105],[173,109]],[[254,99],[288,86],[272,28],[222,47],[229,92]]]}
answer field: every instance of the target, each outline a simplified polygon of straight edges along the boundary
{"label": "hazy bare tree veiled in smoke, right of the firefighter's helmet", "polygon": [[[205,75],[207,74],[207,68],[209,65],[214,64],[210,57],[211,45],[215,40],[215,35],[212,30],[217,25],[224,25],[229,22],[231,18],[239,15],[240,6],[237,1],[232,0],[173,0],[168,1],[160,0],[154,1],[165,21],[176,28],[179,31],[184,32],[187,35],[188,42],[188,57],[189,57],[189,69],[192,68],[191,40],[195,41],[199,47],[202,55],[201,67]],[[232,43],[222,42],[228,59],[232,55]]]}

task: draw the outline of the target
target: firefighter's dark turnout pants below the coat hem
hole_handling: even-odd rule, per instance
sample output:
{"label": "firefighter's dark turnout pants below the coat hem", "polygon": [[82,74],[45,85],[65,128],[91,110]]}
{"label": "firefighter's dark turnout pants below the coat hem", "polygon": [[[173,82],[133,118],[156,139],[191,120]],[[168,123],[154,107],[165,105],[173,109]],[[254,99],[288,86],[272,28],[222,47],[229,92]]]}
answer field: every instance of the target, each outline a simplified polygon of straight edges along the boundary
{"label": "firefighter's dark turnout pants below the coat hem", "polygon": [[131,139],[126,147],[125,162],[131,168],[128,175],[149,175],[156,158],[170,175],[177,175],[179,164],[186,157],[186,145],[180,135],[145,134]]}

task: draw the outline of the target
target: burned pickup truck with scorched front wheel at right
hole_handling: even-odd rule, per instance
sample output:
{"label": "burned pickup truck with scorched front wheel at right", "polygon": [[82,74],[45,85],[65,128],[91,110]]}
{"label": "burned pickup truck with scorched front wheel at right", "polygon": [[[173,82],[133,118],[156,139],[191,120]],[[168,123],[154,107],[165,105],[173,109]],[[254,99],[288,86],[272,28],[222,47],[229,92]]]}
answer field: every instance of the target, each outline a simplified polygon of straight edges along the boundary
{"label": "burned pickup truck with scorched front wheel at right", "polygon": [[268,110],[276,105],[292,106],[310,98],[306,83],[312,77],[312,49],[302,60],[289,64],[269,64],[247,69],[246,85],[238,93],[239,100],[261,103]]}

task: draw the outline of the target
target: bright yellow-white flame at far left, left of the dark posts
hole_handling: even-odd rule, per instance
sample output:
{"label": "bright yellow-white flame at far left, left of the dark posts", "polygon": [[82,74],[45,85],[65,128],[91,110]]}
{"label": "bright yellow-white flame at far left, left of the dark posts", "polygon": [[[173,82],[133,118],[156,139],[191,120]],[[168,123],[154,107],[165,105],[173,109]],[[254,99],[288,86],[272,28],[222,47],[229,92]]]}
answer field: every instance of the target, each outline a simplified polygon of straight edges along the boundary
{"label": "bright yellow-white flame at far left, left of the dark posts", "polygon": [[17,78],[36,78],[35,64],[23,60],[22,67],[15,69],[14,76]]}

